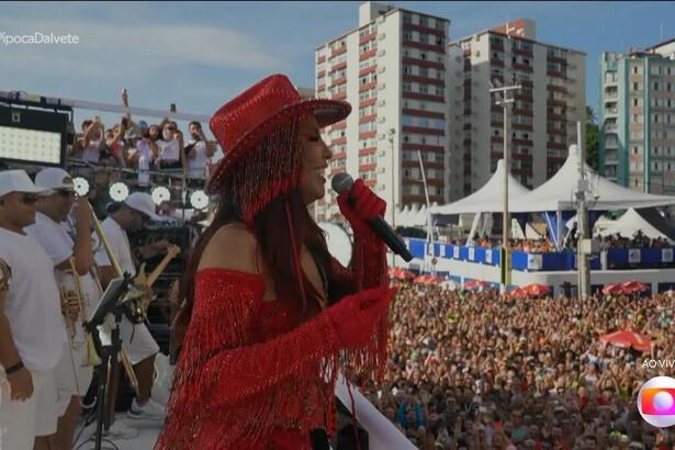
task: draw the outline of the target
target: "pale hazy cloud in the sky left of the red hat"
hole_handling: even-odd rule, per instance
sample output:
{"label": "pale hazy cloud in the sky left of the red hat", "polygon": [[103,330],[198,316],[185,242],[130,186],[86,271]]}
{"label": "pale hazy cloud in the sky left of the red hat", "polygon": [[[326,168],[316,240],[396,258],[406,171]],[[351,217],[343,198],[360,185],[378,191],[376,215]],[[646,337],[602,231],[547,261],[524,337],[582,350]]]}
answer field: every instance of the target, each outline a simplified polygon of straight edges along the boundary
{"label": "pale hazy cloud in the sky left of the red hat", "polygon": [[79,36],[74,45],[0,45],[0,57],[9,60],[14,75],[48,72],[53,76],[119,79],[124,71],[161,74],[193,65],[212,68],[284,69],[269,48],[255,36],[203,24],[124,23],[83,20],[77,16],[45,20],[0,16],[0,32],[35,32]]}

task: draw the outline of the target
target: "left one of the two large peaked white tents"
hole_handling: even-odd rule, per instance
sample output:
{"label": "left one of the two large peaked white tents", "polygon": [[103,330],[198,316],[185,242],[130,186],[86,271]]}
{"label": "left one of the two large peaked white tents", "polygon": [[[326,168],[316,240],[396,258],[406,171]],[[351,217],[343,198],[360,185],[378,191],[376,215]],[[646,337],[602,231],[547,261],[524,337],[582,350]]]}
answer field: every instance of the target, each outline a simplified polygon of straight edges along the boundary
{"label": "left one of the two large peaked white tents", "polygon": [[[504,161],[497,161],[497,170],[485,184],[474,193],[441,206],[432,206],[431,214],[435,216],[465,214],[465,213],[498,213],[504,211]],[[508,176],[508,203],[509,210],[516,202],[530,191],[514,178]]]}

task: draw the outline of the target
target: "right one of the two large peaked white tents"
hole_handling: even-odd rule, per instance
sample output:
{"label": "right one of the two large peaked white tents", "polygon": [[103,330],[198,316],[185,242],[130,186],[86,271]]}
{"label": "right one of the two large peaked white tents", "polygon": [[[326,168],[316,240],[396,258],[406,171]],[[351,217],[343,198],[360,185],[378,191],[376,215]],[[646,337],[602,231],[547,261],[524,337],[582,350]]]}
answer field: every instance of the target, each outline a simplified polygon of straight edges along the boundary
{"label": "right one of the two large peaked white tents", "polygon": [[[509,210],[514,213],[576,210],[574,196],[580,179],[580,161],[577,146],[571,145],[570,156],[560,170],[549,181],[509,205]],[[675,204],[675,196],[645,194],[612,183],[597,175],[586,162],[584,173],[592,192],[588,210],[610,211]]]}

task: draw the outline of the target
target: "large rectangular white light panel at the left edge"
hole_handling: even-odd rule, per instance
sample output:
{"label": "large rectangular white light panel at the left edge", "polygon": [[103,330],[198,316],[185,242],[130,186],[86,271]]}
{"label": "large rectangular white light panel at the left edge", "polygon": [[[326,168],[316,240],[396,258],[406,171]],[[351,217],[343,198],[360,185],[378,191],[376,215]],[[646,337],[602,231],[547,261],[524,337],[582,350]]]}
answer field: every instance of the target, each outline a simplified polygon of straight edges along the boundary
{"label": "large rectangular white light panel at the left edge", "polygon": [[0,158],[57,165],[60,155],[59,133],[0,126]]}

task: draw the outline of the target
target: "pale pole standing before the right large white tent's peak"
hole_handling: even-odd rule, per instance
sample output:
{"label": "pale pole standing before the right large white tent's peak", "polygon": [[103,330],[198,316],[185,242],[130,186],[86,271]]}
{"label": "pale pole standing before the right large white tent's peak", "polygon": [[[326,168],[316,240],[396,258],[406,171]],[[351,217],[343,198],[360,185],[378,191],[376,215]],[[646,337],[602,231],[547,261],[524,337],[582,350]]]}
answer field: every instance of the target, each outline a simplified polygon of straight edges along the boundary
{"label": "pale pole standing before the right large white tent's peak", "polygon": [[584,171],[585,149],[582,143],[582,123],[576,123],[576,145],[578,146],[578,184],[576,188],[576,225],[578,239],[576,241],[578,297],[586,299],[590,292],[590,270],[588,268],[588,254],[590,252],[590,238],[588,238],[588,214],[586,211],[586,192],[588,180]]}

